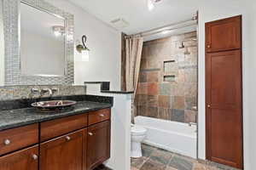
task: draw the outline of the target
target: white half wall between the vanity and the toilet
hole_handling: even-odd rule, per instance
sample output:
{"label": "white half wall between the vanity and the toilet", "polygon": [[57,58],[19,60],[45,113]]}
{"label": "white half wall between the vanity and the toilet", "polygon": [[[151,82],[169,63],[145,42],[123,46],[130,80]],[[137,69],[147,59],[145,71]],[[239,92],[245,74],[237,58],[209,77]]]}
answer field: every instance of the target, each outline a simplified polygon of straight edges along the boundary
{"label": "white half wall between the vanity and the toilet", "polygon": [[99,84],[88,84],[86,94],[113,97],[113,107],[111,109],[111,156],[105,164],[113,170],[130,170],[132,94],[102,94]]}

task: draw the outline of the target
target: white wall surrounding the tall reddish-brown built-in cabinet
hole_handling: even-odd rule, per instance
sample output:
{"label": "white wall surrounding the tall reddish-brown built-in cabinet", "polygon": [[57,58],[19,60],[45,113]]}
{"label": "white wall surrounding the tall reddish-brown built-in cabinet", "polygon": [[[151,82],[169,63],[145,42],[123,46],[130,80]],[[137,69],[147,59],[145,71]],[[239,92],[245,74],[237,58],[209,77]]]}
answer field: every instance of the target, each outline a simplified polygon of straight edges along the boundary
{"label": "white wall surrounding the tall reddish-brown built-in cabinet", "polygon": [[[244,160],[245,169],[256,167],[256,116],[253,106],[256,105],[256,59],[255,59],[255,30],[253,19],[255,9],[251,0],[201,0],[199,8],[199,158],[205,159],[205,23],[212,20],[224,19],[234,15],[243,16],[243,124],[244,124]],[[252,8],[251,8],[252,7]],[[255,7],[255,4],[254,4]],[[250,14],[251,12],[251,14]],[[254,44],[253,44],[254,42]]]}

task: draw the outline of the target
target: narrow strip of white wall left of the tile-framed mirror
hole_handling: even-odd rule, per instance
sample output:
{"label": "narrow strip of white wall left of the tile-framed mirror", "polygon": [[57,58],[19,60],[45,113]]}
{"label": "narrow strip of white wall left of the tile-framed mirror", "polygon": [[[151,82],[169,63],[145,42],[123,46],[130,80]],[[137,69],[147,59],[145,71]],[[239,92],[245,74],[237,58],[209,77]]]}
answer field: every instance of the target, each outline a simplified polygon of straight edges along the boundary
{"label": "narrow strip of white wall left of the tile-framed mirror", "polygon": [[4,84],[3,0],[0,0],[0,86]]}

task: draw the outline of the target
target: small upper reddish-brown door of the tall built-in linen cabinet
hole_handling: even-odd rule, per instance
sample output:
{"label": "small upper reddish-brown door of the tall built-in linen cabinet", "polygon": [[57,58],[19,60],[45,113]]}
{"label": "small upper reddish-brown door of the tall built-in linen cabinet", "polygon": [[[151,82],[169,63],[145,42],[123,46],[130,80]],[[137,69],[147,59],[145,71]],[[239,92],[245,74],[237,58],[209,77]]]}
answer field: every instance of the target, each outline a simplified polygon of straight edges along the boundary
{"label": "small upper reddish-brown door of the tall built-in linen cabinet", "polygon": [[206,51],[219,52],[241,48],[241,16],[206,24]]}

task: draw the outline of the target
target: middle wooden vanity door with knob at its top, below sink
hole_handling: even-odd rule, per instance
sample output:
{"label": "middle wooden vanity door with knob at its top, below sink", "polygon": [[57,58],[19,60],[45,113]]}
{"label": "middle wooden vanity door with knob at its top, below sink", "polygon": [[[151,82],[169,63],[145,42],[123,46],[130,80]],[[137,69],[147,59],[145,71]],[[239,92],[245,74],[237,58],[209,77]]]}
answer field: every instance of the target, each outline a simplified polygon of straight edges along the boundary
{"label": "middle wooden vanity door with knob at its top, below sink", "polygon": [[40,170],[82,170],[84,130],[40,144]]}

